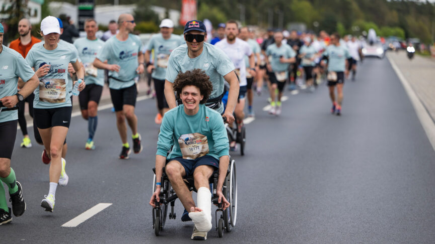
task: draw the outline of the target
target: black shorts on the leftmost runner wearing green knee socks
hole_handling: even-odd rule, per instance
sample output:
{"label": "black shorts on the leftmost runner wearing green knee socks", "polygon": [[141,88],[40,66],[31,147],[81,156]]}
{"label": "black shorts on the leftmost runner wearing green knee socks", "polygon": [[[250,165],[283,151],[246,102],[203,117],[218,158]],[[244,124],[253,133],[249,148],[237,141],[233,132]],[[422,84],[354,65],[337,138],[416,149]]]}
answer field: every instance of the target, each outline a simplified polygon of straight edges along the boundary
{"label": "black shorts on the leftmost runner wearing green knee socks", "polygon": [[0,158],[11,159],[17,137],[17,124],[18,119],[0,123]]}

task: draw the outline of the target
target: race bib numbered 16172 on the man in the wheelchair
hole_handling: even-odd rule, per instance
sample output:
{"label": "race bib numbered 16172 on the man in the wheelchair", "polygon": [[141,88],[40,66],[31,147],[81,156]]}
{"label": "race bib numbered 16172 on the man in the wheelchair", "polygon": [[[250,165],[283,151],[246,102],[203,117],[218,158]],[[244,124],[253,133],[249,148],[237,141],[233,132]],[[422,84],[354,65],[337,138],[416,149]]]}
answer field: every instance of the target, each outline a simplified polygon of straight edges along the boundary
{"label": "race bib numbered 16172 on the man in the wheelchair", "polygon": [[181,135],[178,144],[183,159],[197,159],[208,153],[207,137],[199,133]]}

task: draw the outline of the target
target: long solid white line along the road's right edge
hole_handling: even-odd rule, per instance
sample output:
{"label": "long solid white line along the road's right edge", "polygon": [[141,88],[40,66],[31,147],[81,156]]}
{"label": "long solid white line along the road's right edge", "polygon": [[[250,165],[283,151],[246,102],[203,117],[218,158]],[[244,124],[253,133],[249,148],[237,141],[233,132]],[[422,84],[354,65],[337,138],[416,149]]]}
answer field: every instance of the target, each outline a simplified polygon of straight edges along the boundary
{"label": "long solid white line along the road's right edge", "polygon": [[402,72],[397,67],[396,63],[392,59],[390,59],[389,55],[387,55],[387,58],[388,61],[390,61],[391,66],[393,67],[400,81],[402,82],[403,88],[405,88],[409,100],[411,100],[412,106],[417,113],[417,117],[420,120],[421,126],[423,126],[427,138],[429,139],[429,142],[430,144],[432,144],[432,148],[435,151],[435,124],[433,123],[432,118],[430,117],[427,110],[424,108],[417,94],[415,94],[415,91],[412,89],[411,85],[409,85],[408,80],[405,78],[405,76],[403,76]]}

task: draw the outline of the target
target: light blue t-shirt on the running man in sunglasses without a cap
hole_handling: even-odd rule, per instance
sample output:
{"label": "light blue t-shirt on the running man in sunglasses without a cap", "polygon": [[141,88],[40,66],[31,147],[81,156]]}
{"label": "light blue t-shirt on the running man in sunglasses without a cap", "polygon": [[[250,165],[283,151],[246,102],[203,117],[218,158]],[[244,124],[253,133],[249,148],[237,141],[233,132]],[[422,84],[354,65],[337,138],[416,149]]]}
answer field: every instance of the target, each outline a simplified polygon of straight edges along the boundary
{"label": "light blue t-shirt on the running man in sunglasses without a cap", "polygon": [[133,34],[128,34],[126,41],[119,41],[116,36],[113,36],[104,43],[103,50],[97,54],[97,58],[102,62],[107,60],[108,64],[117,64],[121,67],[119,72],[109,71],[111,89],[119,90],[134,85],[134,78],[138,76],[136,69],[139,66],[137,57],[140,50],[142,50],[142,43],[139,37]]}

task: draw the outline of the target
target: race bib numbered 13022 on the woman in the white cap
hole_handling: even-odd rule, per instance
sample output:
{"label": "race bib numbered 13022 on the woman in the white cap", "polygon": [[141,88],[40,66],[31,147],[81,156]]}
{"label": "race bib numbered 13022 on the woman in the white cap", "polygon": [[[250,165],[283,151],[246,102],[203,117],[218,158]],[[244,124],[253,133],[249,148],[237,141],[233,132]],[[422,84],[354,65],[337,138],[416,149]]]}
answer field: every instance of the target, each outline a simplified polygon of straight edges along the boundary
{"label": "race bib numbered 13022 on the woman in the white cap", "polygon": [[50,103],[65,102],[66,83],[65,79],[41,79],[39,80],[39,100]]}

